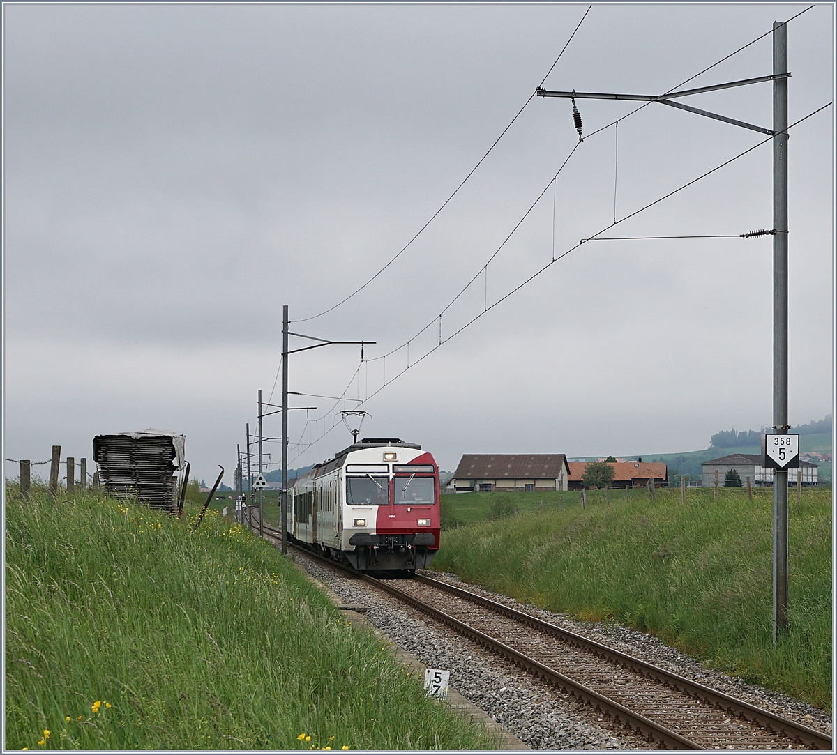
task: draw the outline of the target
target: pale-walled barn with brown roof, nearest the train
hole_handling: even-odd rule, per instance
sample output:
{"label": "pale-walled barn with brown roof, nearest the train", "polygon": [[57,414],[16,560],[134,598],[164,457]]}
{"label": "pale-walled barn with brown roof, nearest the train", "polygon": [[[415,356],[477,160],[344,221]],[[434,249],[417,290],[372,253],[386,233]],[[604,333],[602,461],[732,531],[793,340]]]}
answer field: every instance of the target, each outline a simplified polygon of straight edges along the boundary
{"label": "pale-walled barn with brown roof, nearest the train", "polygon": [[457,493],[567,490],[563,454],[464,454],[449,481]]}

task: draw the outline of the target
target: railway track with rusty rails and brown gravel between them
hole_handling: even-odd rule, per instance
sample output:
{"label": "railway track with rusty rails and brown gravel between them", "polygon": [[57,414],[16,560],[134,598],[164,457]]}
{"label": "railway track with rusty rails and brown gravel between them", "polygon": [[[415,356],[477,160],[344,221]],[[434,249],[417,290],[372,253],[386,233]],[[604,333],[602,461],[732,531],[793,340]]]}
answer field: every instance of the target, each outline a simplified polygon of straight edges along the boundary
{"label": "railway track with rusty rails and brown gravel between them", "polygon": [[[264,533],[271,539],[279,537],[279,531],[266,523]],[[342,568],[329,559],[321,560]],[[511,660],[660,747],[832,749],[828,734],[463,588],[422,575],[380,580],[352,569],[343,570]]]}

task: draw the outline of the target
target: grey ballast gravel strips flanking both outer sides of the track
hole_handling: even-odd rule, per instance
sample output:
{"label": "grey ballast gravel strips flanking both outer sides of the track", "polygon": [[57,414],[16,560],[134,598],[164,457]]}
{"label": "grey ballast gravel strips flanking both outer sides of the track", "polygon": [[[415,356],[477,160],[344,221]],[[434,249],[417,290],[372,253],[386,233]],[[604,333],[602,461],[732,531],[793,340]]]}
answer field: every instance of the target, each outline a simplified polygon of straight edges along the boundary
{"label": "grey ballast gravel strips flanking both outer sides of the track", "polygon": [[[408,653],[426,665],[449,670],[450,686],[528,747],[535,750],[655,748],[653,742],[648,742],[626,728],[614,727],[609,719],[603,718],[590,707],[557,693],[552,686],[527,675],[508,660],[490,654],[479,645],[436,624],[419,611],[400,605],[395,598],[380,593],[367,583],[341,574],[304,553],[295,552],[293,557],[295,562],[321,583],[328,585],[345,603],[368,606],[364,614],[367,619]],[[696,660],[649,634],[619,624],[594,624],[573,619],[567,614],[552,614],[517,603],[505,595],[462,583],[455,574],[429,570],[424,573],[648,660],[752,705],[774,711],[819,731],[831,732],[831,716],[826,711],[794,701],[782,693],[706,670]]]}

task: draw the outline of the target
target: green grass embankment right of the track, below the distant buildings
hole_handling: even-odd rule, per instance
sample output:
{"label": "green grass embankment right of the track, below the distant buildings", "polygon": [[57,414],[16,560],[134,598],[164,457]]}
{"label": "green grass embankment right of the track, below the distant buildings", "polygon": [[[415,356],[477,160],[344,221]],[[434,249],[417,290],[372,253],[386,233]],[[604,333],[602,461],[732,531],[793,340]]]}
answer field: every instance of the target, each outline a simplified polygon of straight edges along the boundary
{"label": "green grass embankment right of the track, below the distant buildings", "polygon": [[[621,492],[621,496],[619,493]],[[529,511],[443,532],[433,568],[555,612],[656,634],[711,668],[831,707],[831,491],[790,490],[788,631],[773,649],[772,494],[634,490],[529,497]],[[496,494],[444,496],[485,520]],[[502,494],[500,494],[502,495]],[[479,496],[479,497],[477,497]],[[461,503],[460,503],[461,499]],[[480,500],[481,499],[481,500]],[[548,504],[547,504],[548,499]],[[544,512],[539,514],[539,501]],[[460,514],[462,515],[460,517]]]}

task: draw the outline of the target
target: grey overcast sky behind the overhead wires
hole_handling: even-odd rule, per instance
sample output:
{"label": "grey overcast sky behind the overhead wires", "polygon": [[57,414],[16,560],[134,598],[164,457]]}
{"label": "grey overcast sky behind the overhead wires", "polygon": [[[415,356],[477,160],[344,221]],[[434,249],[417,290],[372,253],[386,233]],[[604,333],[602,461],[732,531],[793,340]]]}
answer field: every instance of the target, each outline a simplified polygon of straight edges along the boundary
{"label": "grey overcast sky behind the overhead wires", "polygon": [[[662,94],[807,7],[593,5],[544,86]],[[5,4],[4,455],[61,444],[91,459],[95,434],[173,429],[198,477],[220,464],[231,484],[257,391],[280,403],[282,306],[316,316],[392,259],[587,8]],[[771,37],[687,87],[772,74]],[[793,123],[833,98],[833,4],[788,25],[788,67]],[[682,101],[772,126],[770,83]],[[585,135],[634,110],[577,104]],[[375,341],[367,361],[356,346],[293,355],[290,390],[366,398],[386,379],[362,435],[422,444],[448,470],[464,453],[701,449],[772,424],[770,237],[588,242],[393,381],[438,346],[439,312],[475,275],[442,339],[614,212],[765,138],[652,104],[618,138],[611,126],[578,144],[570,101],[533,98],[388,270],[290,328]],[[832,411],[833,146],[833,107],[791,132],[792,424]],[[772,197],[768,142],[603,236],[771,229]],[[409,356],[376,359],[428,324]],[[335,401],[292,398],[316,410],[291,413],[291,466],[351,441],[339,416],[324,435]],[[279,415],[264,429],[278,436]],[[268,450],[273,469],[280,444]]]}

